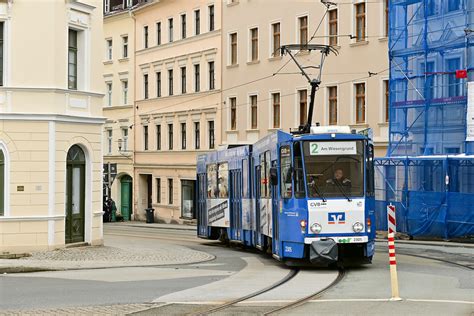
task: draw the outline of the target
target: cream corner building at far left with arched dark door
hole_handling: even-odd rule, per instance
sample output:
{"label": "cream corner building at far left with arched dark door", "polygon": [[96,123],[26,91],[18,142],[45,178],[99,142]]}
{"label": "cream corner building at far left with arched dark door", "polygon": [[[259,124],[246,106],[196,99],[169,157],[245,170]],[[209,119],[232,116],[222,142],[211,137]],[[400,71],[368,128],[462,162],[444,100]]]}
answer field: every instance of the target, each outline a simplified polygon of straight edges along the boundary
{"label": "cream corner building at far left with arched dark door", "polygon": [[103,242],[101,7],[0,2],[0,252]]}

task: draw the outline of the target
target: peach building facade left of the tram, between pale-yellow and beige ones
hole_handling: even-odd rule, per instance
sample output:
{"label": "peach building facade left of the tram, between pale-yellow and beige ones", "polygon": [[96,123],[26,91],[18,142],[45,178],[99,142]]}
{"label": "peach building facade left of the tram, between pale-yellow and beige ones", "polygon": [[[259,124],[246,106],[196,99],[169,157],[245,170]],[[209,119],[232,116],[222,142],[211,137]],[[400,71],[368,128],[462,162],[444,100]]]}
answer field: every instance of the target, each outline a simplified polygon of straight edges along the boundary
{"label": "peach building facade left of the tram, between pale-yellow and beige ones", "polygon": [[135,219],[194,217],[197,154],[221,142],[221,1],[136,10]]}

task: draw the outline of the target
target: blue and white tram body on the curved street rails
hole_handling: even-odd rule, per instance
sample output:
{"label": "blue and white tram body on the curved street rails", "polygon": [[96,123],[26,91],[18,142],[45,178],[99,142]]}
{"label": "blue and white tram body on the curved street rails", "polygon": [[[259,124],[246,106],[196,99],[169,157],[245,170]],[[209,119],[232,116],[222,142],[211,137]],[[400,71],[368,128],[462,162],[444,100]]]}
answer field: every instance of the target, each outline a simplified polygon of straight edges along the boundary
{"label": "blue and white tram body on the curved street rails", "polygon": [[198,235],[289,265],[371,261],[373,146],[348,127],[275,132],[198,158]]}

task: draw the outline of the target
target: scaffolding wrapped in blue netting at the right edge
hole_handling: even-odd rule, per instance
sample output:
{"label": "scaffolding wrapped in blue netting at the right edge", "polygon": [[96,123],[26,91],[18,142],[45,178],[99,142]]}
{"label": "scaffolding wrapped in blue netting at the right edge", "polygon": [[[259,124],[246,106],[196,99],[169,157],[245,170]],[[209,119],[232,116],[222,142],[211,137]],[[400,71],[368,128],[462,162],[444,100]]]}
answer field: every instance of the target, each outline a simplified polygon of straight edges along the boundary
{"label": "scaffolding wrapped in blue netting at the right edge", "polygon": [[399,232],[474,235],[474,1],[391,0],[389,59],[389,147],[376,160],[377,227],[386,230],[393,203]]}

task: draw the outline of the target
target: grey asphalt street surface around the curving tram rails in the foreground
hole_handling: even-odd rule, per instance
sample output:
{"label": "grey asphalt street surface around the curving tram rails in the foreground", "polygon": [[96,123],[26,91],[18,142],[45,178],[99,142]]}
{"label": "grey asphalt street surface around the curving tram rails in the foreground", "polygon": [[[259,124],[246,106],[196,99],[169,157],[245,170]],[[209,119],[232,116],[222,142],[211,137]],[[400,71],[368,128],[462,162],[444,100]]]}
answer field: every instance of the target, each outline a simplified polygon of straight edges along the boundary
{"label": "grey asphalt street surface around the curving tram rails in the foreground", "polygon": [[[126,245],[150,251],[165,245],[180,245],[212,254],[215,259],[185,265],[3,275],[0,277],[0,315],[26,311],[64,315],[196,314],[267,289],[265,293],[213,313],[264,314],[328,286],[322,294],[280,314],[474,314],[473,248],[398,244],[403,300],[390,301],[388,254],[384,243],[378,244],[372,265],[348,268],[342,280],[330,286],[339,275],[337,269],[302,269],[286,280],[293,270],[269,256],[201,240],[189,230],[112,224],[106,225],[104,232],[105,244],[110,247]],[[270,289],[279,282],[282,284]]]}

